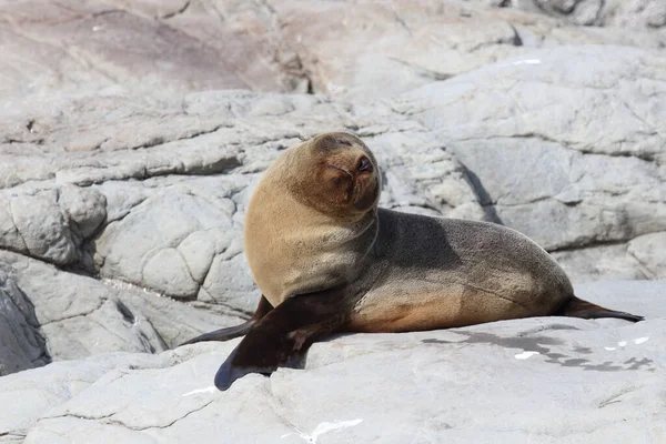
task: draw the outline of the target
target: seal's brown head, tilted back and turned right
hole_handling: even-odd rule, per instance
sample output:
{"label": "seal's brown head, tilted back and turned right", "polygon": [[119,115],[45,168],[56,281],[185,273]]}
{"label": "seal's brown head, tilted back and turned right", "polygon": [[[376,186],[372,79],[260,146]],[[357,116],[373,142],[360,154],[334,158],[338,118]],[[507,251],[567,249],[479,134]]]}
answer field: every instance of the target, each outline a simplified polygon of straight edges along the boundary
{"label": "seal's brown head, tilted back and turned right", "polygon": [[296,199],[330,215],[354,216],[376,208],[380,170],[357,137],[320,134],[295,147],[293,154],[289,183]]}

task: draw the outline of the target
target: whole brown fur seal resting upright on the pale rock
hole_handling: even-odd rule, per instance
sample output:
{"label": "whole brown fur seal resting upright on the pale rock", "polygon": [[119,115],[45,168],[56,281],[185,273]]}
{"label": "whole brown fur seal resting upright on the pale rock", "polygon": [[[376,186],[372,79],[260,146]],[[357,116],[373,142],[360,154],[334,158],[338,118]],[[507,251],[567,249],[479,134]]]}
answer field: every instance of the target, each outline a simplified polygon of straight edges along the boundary
{"label": "whole brown fur seal resting upright on the pale rock", "polygon": [[262,292],[239,326],[186,343],[245,335],[215,375],[300,367],[334,332],[406,332],[528,316],[619,317],[577,299],[557,262],[515,230],[377,208],[370,149],[344,132],[285,150],[245,215],[245,255]]}

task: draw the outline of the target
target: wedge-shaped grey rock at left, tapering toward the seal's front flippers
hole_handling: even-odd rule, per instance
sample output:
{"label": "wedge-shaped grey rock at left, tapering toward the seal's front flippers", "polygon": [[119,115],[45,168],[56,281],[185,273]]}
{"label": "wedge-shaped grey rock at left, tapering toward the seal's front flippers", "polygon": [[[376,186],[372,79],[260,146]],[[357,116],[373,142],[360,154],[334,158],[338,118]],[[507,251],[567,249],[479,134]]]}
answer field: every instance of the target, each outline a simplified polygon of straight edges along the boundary
{"label": "wedge-shaped grey rock at left, tapering toward the seal's front flippers", "polygon": [[[2,302],[16,301],[21,304],[19,313],[26,313],[22,324],[14,321],[10,331],[32,333],[28,339],[18,336],[14,353],[26,354],[34,365],[49,362],[49,355],[67,360],[113,351],[158,353],[204,331],[241,322],[234,315],[198,312],[128,284],[61,272],[13,253],[0,252],[0,264],[11,276]],[[47,337],[47,357],[38,329]],[[10,331],[2,339],[11,337]],[[24,367],[17,359],[9,370]]]}

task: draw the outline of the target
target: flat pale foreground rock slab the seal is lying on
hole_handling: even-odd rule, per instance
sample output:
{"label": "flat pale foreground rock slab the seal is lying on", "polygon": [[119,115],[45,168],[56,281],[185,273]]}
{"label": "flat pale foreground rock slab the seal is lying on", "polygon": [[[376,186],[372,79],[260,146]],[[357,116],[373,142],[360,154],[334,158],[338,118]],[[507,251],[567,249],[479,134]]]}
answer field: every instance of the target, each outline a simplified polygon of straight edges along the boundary
{"label": "flat pale foreground rock slab the seal is lying on", "polygon": [[341,335],[314,344],[304,370],[226,392],[212,380],[239,340],[57,363],[0,380],[0,400],[14,396],[0,442],[660,442],[666,282],[576,291],[647,320]]}

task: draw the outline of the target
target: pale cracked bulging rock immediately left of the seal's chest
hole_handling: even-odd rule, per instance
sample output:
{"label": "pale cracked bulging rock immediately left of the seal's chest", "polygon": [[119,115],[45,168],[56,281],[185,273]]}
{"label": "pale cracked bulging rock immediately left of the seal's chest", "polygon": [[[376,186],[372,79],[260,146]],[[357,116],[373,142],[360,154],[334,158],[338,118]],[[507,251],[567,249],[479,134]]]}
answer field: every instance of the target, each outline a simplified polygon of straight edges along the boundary
{"label": "pale cracked bulging rock immediately left of the seal's chest", "polygon": [[[188,259],[201,261],[189,254],[192,242],[198,233],[216,230],[218,234],[224,234],[231,230],[233,210],[224,211],[223,200],[211,205],[205,194],[188,194],[189,190],[179,193],[173,188],[151,193],[157,195],[144,200],[121,221],[109,224],[97,243],[97,252],[104,258],[102,270],[107,275],[122,275],[153,289],[169,289],[174,296],[195,297],[215,251],[203,252],[204,263],[194,263],[190,271]],[[233,203],[226,206],[234,209]],[[231,236],[226,244],[215,239],[222,251],[231,242]],[[147,255],[150,251],[154,253]]]}

